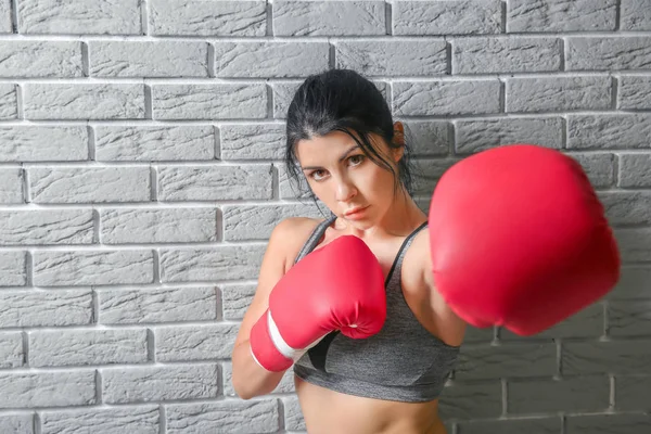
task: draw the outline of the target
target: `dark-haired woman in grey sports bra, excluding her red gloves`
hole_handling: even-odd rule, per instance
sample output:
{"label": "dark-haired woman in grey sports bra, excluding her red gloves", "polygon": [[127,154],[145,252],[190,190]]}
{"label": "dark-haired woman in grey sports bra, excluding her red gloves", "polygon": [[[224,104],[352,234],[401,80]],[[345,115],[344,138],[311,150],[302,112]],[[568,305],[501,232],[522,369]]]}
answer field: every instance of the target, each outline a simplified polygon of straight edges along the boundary
{"label": "dark-haired woman in grey sports bra, excluding her red gloves", "polygon": [[[235,392],[244,399],[265,395],[283,376],[283,371],[270,372],[256,362],[250,341],[275,285],[309,252],[355,235],[375,255],[386,279],[386,319],[371,337],[373,353],[348,358],[348,366],[337,366],[337,360],[346,360],[346,352],[361,341],[336,332],[296,361],[295,387],[307,430],[445,434],[438,395],[465,322],[430,277],[427,217],[410,195],[403,125],[393,122],[372,82],[352,71],[333,69],[308,77],[297,90],[286,132],[290,175],[296,181],[304,177],[332,216],[288,218],[275,228],[232,353]],[[318,361],[326,356],[328,363]]]}

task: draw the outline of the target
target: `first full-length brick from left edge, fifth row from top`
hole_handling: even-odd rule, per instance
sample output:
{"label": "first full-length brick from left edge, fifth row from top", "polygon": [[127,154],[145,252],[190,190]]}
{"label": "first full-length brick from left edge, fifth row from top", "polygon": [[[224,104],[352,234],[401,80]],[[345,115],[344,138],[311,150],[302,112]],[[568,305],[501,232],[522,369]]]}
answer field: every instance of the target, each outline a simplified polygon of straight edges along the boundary
{"label": "first full-length brick from left edge, fifth row from top", "polygon": [[150,168],[35,167],[29,168],[34,203],[149,202]]}

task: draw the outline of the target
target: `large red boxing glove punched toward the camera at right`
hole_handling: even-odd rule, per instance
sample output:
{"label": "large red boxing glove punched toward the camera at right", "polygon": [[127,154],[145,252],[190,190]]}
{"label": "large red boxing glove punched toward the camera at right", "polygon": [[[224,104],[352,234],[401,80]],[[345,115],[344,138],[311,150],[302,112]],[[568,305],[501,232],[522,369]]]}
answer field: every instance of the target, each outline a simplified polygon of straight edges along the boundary
{"label": "large red boxing glove punched toward the camera at right", "polygon": [[516,144],[462,159],[436,186],[429,220],[435,285],[475,327],[538,333],[620,279],[603,206],[556,150]]}

